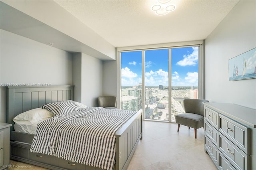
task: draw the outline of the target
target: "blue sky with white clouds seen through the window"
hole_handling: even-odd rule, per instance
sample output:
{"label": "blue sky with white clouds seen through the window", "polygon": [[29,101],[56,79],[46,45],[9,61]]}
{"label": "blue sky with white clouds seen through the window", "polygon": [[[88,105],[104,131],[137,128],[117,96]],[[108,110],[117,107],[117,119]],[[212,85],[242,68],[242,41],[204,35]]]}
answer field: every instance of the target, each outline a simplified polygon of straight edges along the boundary
{"label": "blue sky with white clouds seen through the window", "polygon": [[[142,83],[142,51],[121,53],[122,86]],[[168,49],[145,51],[146,86],[168,86]],[[198,86],[198,47],[172,49],[172,86]]]}

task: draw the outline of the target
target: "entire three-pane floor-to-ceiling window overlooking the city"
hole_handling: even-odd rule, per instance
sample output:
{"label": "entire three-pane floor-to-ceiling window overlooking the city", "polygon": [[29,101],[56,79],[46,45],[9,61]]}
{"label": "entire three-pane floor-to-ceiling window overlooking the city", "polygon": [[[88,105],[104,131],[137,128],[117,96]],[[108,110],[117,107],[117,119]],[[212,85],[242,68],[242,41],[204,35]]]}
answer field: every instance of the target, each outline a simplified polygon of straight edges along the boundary
{"label": "entire three-pane floor-to-ceiling window overlooking the city", "polygon": [[119,51],[121,109],[143,109],[145,120],[175,121],[174,115],[184,112],[184,99],[200,98],[199,49]]}

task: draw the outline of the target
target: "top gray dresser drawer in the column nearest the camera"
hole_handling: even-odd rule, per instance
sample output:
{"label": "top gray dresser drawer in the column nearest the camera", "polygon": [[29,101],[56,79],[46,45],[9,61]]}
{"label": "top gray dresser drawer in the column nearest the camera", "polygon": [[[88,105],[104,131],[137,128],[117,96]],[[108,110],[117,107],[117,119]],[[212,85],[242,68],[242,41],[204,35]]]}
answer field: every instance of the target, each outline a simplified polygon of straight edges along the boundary
{"label": "top gray dresser drawer in the column nearest the camera", "polygon": [[246,154],[250,154],[250,129],[219,114],[219,131]]}

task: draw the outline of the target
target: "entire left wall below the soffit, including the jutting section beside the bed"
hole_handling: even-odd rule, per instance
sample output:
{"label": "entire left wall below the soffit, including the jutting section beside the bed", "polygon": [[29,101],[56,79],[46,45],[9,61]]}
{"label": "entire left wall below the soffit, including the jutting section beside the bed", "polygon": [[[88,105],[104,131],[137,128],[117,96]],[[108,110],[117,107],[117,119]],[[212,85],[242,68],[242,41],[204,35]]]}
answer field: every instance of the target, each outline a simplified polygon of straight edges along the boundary
{"label": "entire left wall below the soffit, including the jutting section beside the bed", "polygon": [[74,85],[74,100],[98,106],[103,89],[103,61],[84,53],[68,53],[1,30],[0,122],[6,122],[7,83]]}

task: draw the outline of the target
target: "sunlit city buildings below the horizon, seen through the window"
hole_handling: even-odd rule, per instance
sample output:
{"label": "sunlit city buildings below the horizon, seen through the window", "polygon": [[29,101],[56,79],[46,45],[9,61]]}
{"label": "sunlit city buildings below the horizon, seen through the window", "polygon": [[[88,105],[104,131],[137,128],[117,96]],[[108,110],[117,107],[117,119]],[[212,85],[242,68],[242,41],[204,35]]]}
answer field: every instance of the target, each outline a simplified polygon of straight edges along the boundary
{"label": "sunlit city buildings below the horizon, seen through the window", "polygon": [[[141,85],[124,87],[121,93],[122,109],[133,111],[144,109],[145,119],[161,121],[169,121],[169,119],[175,121],[175,115],[184,113],[184,99],[198,99],[198,89],[193,86],[172,88],[171,98],[169,90],[162,88],[161,85],[146,88],[144,98]],[[143,99],[144,105],[142,105]],[[169,106],[171,110],[168,109]]]}

